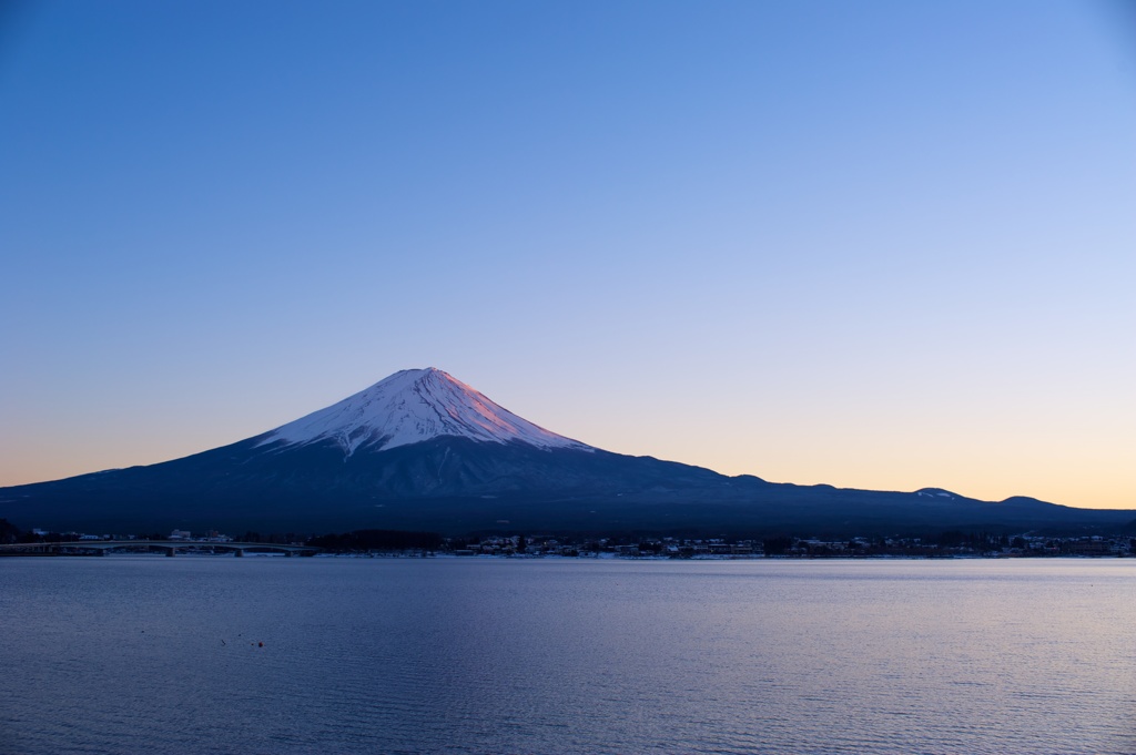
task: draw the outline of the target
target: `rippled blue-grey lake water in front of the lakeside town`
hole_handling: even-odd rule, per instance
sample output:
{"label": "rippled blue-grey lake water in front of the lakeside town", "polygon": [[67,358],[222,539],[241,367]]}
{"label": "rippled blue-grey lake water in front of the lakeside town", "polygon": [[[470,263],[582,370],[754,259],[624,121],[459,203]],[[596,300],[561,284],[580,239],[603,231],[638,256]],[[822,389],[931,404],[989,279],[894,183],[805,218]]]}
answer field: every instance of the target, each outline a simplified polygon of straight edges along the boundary
{"label": "rippled blue-grey lake water in front of the lakeside town", "polygon": [[0,753],[1128,755],[1134,598],[1136,560],[3,559]]}

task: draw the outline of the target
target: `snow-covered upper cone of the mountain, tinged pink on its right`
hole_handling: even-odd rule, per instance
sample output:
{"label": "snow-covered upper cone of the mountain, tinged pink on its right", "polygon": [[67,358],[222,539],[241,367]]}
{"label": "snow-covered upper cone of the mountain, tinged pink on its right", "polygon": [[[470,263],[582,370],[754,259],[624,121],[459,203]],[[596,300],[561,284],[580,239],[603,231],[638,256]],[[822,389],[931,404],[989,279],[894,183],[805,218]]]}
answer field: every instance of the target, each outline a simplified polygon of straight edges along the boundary
{"label": "snow-covered upper cone of the mountain, tinged pink on its right", "polygon": [[270,430],[258,446],[329,439],[350,456],[361,447],[384,451],[438,436],[519,442],[544,450],[592,450],[517,417],[433,367],[395,372],[337,404]]}

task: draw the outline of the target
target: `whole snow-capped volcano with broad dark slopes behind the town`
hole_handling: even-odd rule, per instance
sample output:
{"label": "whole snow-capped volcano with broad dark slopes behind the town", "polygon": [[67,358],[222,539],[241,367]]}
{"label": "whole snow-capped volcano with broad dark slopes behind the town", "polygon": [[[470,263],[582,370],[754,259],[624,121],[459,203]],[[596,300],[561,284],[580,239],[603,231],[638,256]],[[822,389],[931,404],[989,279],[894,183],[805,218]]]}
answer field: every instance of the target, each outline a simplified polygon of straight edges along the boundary
{"label": "whole snow-capped volcano with broad dark slopes behind the town", "polygon": [[437,369],[395,372],[232,445],[0,488],[22,528],[872,535],[1116,529],[1136,512],[772,484],[557,435]]}

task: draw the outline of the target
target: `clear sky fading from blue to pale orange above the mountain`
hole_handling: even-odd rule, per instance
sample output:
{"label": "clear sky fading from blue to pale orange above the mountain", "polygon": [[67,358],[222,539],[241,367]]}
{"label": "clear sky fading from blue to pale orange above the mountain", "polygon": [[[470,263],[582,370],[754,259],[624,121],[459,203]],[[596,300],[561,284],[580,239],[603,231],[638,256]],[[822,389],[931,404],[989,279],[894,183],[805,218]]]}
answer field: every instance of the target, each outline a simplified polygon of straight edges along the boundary
{"label": "clear sky fading from blue to pale orange above the mountain", "polygon": [[0,485],[433,366],[610,451],[1136,509],[1130,5],[0,8]]}

